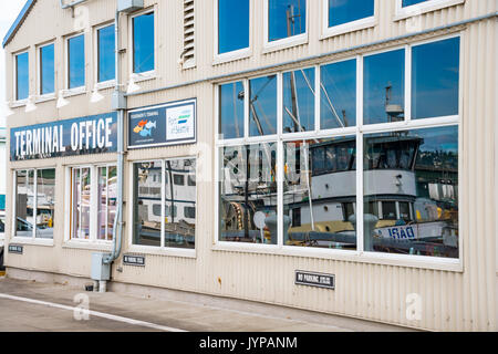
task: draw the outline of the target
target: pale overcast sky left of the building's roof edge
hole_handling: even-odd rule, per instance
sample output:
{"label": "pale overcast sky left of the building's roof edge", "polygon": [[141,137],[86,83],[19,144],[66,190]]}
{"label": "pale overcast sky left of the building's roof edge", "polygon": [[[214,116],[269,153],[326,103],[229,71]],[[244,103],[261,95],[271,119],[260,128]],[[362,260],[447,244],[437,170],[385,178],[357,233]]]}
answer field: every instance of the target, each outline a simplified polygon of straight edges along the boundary
{"label": "pale overcast sky left of the building's roof edge", "polygon": [[[9,31],[27,0],[0,0],[0,40]],[[0,45],[0,126],[4,126],[6,117],[6,52]]]}

